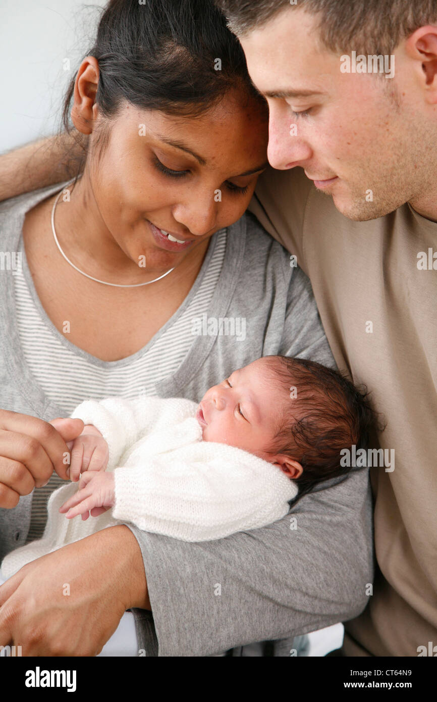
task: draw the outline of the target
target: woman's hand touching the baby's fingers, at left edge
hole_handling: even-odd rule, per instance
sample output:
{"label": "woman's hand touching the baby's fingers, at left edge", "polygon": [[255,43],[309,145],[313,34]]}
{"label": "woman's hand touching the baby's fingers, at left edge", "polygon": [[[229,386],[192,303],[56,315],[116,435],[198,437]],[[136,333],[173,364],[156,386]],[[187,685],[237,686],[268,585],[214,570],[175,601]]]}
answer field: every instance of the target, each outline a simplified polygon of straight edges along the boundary
{"label": "woman's hand touching the baby's fingers, at left edge", "polygon": [[43,419],[0,409],[0,508],[16,507],[20,495],[45,485],[53,470],[67,479],[66,442],[82,429],[81,419],[64,420],[57,430]]}

